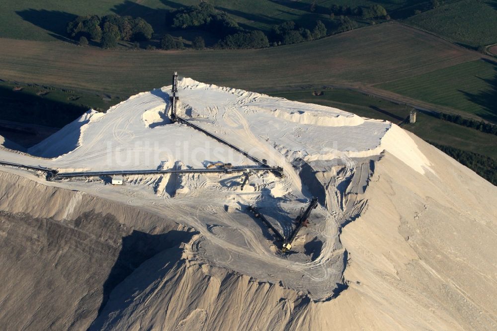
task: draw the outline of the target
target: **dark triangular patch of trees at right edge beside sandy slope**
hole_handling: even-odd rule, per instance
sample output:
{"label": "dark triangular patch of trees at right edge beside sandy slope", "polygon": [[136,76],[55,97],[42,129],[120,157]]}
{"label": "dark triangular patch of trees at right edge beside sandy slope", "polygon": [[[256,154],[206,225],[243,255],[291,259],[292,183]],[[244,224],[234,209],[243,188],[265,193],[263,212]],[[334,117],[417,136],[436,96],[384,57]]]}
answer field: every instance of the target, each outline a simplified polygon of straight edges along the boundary
{"label": "dark triangular patch of trees at right edge beside sandy slope", "polygon": [[454,147],[438,145],[432,142],[429,143],[454,158],[462,165],[466,165],[492,184],[497,185],[497,160],[485,155],[459,150]]}

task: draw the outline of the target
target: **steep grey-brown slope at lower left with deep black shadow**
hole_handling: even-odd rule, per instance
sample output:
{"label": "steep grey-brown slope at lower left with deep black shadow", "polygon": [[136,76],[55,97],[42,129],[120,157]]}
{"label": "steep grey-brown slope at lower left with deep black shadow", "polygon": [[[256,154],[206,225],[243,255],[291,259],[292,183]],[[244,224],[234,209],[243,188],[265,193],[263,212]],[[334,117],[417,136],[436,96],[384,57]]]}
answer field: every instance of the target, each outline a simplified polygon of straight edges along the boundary
{"label": "steep grey-brown slope at lower left with deep black shadow", "polygon": [[85,329],[143,261],[193,234],[136,208],[0,177],[2,329]]}

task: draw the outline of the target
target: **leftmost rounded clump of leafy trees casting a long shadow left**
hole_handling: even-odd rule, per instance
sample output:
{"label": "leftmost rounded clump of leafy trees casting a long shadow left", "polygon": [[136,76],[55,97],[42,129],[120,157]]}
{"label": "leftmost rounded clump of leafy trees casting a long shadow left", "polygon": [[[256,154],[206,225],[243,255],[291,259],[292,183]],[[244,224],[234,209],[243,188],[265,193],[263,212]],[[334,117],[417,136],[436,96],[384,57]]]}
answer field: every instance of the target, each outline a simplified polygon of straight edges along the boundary
{"label": "leftmost rounded clump of leafy trees casting a long shadow left", "polygon": [[67,25],[71,38],[87,44],[88,39],[101,42],[103,48],[117,46],[119,40],[150,40],[154,33],[152,26],[141,17],[107,15],[78,16]]}

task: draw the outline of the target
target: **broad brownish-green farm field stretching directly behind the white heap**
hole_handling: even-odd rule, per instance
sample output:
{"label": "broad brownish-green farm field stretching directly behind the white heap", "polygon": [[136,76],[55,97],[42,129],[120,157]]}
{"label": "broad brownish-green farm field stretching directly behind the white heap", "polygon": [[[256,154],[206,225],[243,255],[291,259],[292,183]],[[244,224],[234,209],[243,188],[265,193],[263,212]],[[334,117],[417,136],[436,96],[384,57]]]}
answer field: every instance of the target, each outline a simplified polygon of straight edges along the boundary
{"label": "broad brownish-green farm field stretching directly behind the white heap", "polygon": [[197,81],[257,91],[337,82],[382,83],[478,57],[400,24],[379,24],[259,50],[102,50],[63,42],[0,39],[0,79],[131,95],[168,85],[170,74],[178,71]]}

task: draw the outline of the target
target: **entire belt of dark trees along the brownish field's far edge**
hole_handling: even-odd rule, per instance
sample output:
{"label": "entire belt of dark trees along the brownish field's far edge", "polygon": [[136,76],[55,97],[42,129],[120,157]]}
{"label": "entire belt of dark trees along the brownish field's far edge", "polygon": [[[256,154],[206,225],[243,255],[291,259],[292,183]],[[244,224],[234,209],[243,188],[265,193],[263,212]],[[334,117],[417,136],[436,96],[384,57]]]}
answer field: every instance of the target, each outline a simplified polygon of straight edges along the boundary
{"label": "entire belt of dark trees along the brownish field's far edge", "polygon": [[[271,27],[268,34],[261,30],[248,30],[241,27],[228,13],[216,9],[212,4],[200,1],[196,5],[184,6],[170,10],[166,14],[166,26],[170,29],[198,29],[209,32],[219,39],[212,47],[223,49],[256,49],[285,44],[296,44],[322,38],[330,33],[338,33],[354,29],[357,22],[347,15],[362,18],[388,17],[387,11],[380,5],[370,7],[349,7],[331,5],[331,21],[327,26],[317,20],[314,26],[299,26],[294,21],[286,21]],[[334,15],[338,15],[335,19]],[[150,40],[154,30],[152,26],[141,17],[107,15],[78,16],[67,25],[69,36],[80,45],[87,45],[89,41],[99,43],[103,48],[116,47],[119,41],[135,42]],[[165,34],[160,39],[162,49],[184,49],[181,37],[175,38]],[[192,48],[203,49],[205,41],[202,36],[191,40]],[[148,48],[155,49],[149,45]]]}

